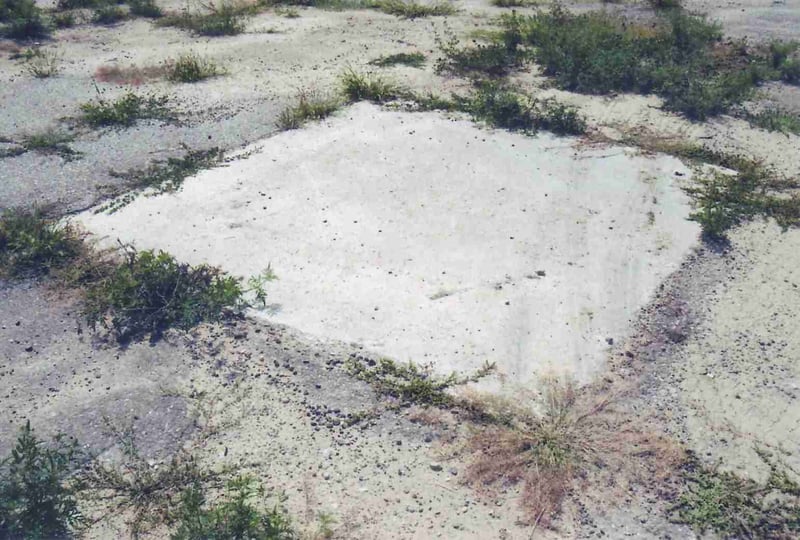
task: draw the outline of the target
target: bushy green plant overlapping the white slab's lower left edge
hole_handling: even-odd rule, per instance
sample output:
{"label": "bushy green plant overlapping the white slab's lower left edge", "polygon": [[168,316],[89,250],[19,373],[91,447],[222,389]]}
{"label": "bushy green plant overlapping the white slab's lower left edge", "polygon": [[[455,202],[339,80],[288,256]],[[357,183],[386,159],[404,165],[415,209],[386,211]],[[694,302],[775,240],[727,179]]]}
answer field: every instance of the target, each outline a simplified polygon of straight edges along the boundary
{"label": "bushy green plant overlapping the white slab's lower left edge", "polygon": [[108,279],[89,287],[84,313],[92,328],[102,326],[120,342],[148,334],[154,341],[168,328],[186,330],[240,310],[243,294],[240,281],[217,268],[129,248]]}

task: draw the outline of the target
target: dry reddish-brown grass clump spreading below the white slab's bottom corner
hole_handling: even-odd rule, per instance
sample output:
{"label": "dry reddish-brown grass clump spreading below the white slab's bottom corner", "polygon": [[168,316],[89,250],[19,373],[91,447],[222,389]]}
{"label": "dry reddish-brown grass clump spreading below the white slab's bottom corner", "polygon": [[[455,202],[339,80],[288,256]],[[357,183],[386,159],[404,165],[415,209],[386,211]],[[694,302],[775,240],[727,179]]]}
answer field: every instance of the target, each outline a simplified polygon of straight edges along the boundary
{"label": "dry reddish-brown grass clump spreading below the white slab's bottom corner", "polygon": [[483,403],[485,418],[501,422],[469,437],[466,483],[488,493],[521,484],[527,519],[548,527],[570,491],[590,476],[618,489],[666,481],[681,463],[682,451],[616,425],[609,404],[610,399],[584,395],[572,382],[557,379],[544,382],[541,401],[528,409],[508,400]]}

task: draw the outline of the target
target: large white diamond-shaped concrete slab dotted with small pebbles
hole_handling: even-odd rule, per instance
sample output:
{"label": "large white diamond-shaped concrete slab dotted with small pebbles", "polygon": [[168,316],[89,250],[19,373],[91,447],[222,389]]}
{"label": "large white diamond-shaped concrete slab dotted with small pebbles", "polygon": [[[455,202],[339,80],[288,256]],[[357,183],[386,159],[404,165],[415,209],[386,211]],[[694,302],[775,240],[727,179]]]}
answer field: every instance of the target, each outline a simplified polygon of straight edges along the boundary
{"label": "large white diamond-shaped concrete slab dotted with small pebbles", "polygon": [[678,160],[367,104],[85,226],[241,276],[264,315],[399,360],[586,380],[696,243]]}

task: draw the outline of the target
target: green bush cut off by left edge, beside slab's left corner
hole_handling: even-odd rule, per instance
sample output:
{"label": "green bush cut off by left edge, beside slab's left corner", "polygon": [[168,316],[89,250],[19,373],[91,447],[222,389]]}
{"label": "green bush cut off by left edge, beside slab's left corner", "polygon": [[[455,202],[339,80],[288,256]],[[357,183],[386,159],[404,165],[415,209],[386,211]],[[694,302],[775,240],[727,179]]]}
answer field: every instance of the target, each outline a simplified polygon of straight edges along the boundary
{"label": "green bush cut off by left edge, beside slab's left corner", "polygon": [[63,268],[82,251],[73,227],[45,217],[38,209],[7,210],[0,217],[0,275],[45,275]]}

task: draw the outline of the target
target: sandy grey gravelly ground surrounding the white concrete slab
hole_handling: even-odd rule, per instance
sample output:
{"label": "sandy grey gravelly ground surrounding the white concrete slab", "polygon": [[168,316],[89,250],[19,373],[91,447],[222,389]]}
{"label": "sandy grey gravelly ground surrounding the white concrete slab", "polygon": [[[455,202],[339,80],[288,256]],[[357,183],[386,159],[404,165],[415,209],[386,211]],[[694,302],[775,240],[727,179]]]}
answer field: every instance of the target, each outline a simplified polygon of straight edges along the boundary
{"label": "sandy grey gravelly ground surrounding the white concrete slab", "polygon": [[[688,7],[719,19],[730,35],[762,40],[797,37],[799,2]],[[488,27],[502,10],[477,0],[459,7],[456,15],[416,20],[366,10],[300,8],[298,18],[267,12],[250,20],[245,33],[226,38],[193,37],[141,19],[78,26],[55,32],[44,45],[63,57],[62,72],[48,79],[31,77],[10,52],[0,53],[0,136],[16,140],[63,126],[75,130],[71,146],[83,154],[73,161],[33,151],[0,159],[0,210],[36,203],[74,214],[103,200],[109,186],[124,188],[112,170],[182,155],[183,145],[240,150],[276,132],[278,114],[298,90],[333,91],[345,67],[377,70],[367,62],[383,54],[428,56],[422,69],[382,70],[409,88],[464,88],[466,81],[434,73],[436,40]],[[98,68],[157,64],[190,49],[228,73],[193,85],[156,80],[137,88],[169,95],[179,122],[73,127],[69,118],[98,90],[118,96],[128,89],[97,81]],[[578,106],[606,141],[668,136],[800,174],[795,135],[727,116],[692,123],[662,110],[654,97],[543,88],[535,70],[517,82]],[[800,110],[796,88],[772,85],[762,97]],[[754,222],[733,231],[724,248],[694,245],[606,348],[594,381],[633,383],[636,390],[617,403],[620,414],[671,434],[708,463],[763,480],[767,471],[756,449],[766,448],[800,467],[800,231]],[[119,348],[82,327],[79,309],[46,284],[0,282],[0,455],[26,420],[44,435],[75,436],[109,459],[118,452],[109,426],[132,426],[153,462],[188,448],[211,467],[252,472],[286,492],[303,527],[313,529],[320,513],[332,515],[338,538],[694,537],[670,523],[657,501],[635,490],[608,500],[602,486],[573,493],[554,529],[526,524],[518,490],[487,498],[464,485],[466,463],[443,444],[450,438],[446,424],[386,409],[368,385],[344,373],[346,358],[375,354],[364,343],[247,318]],[[346,427],[349,417],[365,412],[371,420]],[[124,536],[128,518],[111,515],[88,536]]]}

